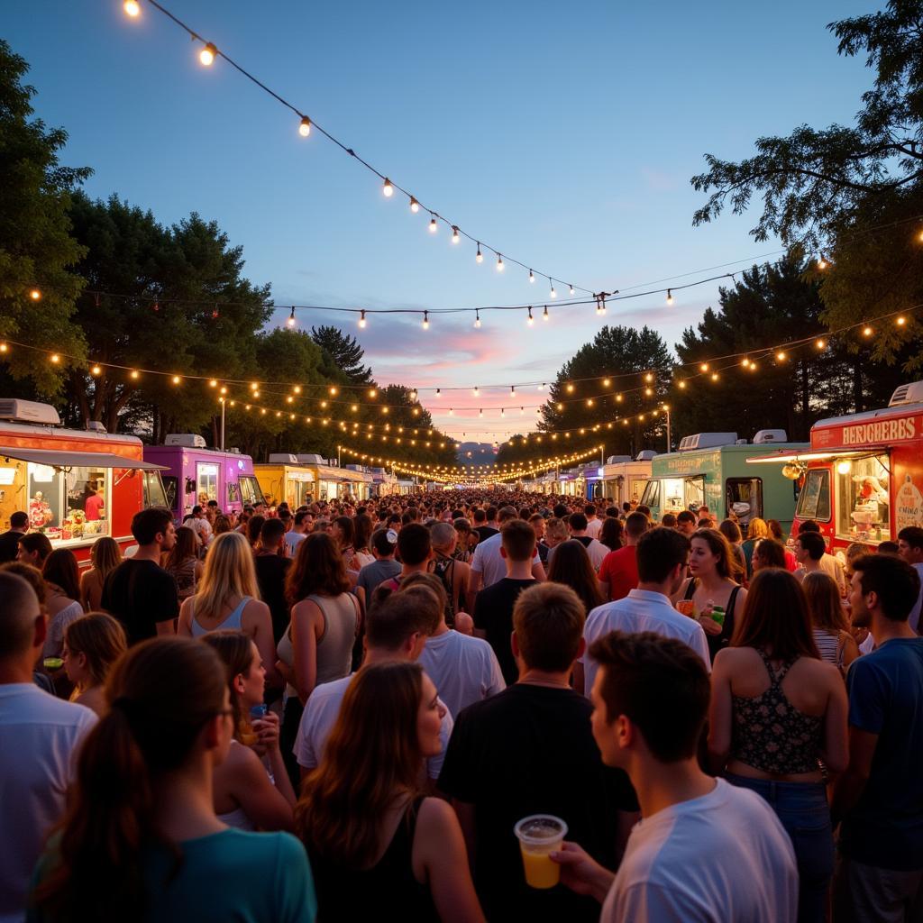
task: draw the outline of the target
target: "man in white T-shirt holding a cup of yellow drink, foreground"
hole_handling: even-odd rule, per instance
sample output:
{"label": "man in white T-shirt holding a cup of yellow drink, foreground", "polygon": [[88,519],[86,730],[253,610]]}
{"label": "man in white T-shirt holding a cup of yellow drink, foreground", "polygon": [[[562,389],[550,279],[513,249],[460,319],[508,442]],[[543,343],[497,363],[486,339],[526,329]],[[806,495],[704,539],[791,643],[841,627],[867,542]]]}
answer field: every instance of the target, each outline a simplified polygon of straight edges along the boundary
{"label": "man in white T-shirt holding a cup of yellow drink, foreground", "polygon": [[689,645],[653,632],[593,642],[593,737],[641,804],[617,873],[565,841],[561,882],[603,904],[600,923],[794,923],[791,841],[755,792],[701,771],[709,678]]}

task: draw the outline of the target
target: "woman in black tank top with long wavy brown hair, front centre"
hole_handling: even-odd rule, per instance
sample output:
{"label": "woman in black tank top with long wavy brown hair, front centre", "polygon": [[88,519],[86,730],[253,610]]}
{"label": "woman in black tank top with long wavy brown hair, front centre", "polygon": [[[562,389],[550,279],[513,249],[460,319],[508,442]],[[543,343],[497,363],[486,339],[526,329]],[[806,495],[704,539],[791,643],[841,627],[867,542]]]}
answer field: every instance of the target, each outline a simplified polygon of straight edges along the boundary
{"label": "woman in black tank top with long wavy brown hair, front centre", "polygon": [[322,918],[399,907],[408,923],[484,920],[458,818],[418,787],[423,761],[442,749],[443,711],[415,663],[363,667],[346,689],[295,810]]}

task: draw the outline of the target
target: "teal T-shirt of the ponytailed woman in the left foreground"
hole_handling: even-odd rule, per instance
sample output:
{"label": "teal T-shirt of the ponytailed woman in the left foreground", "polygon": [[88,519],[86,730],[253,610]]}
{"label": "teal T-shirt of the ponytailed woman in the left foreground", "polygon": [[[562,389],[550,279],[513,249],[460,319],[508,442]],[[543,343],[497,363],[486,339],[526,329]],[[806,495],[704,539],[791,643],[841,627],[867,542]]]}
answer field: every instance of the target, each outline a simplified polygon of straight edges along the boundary
{"label": "teal T-shirt of the ponytailed woman in the left foreground", "polygon": [[[39,860],[32,889],[55,861],[54,840]],[[230,828],[179,844],[182,862],[162,847],[146,856],[149,923],[314,923],[318,899],[305,847],[291,833]],[[132,917],[126,915],[126,919]],[[54,923],[30,909],[27,923]]]}

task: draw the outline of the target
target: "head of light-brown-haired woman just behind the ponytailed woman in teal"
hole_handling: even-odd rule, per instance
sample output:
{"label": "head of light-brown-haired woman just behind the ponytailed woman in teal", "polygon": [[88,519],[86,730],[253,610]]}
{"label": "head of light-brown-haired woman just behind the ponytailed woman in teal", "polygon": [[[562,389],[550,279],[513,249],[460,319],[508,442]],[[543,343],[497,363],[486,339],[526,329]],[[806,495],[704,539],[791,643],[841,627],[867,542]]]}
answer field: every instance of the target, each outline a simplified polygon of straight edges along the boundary
{"label": "head of light-brown-haired woman just behind the ponytailed woman in teal", "polygon": [[127,647],[125,629],[105,612],[90,612],[71,622],[64,635],[64,668],[74,684],[70,701],[104,714],[106,678]]}

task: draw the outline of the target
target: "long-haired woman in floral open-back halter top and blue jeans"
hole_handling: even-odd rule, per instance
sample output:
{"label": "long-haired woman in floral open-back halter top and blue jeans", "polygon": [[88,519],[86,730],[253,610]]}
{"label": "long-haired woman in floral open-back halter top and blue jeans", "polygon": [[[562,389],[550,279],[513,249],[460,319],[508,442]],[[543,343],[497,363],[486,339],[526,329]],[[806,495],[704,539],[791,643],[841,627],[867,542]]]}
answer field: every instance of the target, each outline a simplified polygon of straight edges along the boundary
{"label": "long-haired woman in floral open-back halter top and blue jeans", "polygon": [[[829,578],[828,578],[829,579]],[[798,920],[822,923],[833,875],[833,829],[821,762],[849,761],[846,690],[821,661],[798,581],[758,570],[731,647],[714,658],[712,768],[773,807],[795,848]]]}

